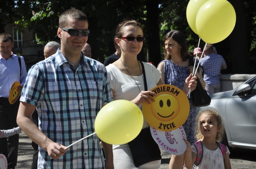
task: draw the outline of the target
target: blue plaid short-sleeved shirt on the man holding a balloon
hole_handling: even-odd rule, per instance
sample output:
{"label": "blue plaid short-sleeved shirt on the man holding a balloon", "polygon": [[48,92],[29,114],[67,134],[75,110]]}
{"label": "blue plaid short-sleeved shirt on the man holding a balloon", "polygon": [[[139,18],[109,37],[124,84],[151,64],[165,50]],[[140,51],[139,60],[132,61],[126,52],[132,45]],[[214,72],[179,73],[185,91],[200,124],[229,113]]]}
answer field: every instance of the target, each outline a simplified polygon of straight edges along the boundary
{"label": "blue plaid short-sleeved shirt on the man holding a balloon", "polygon": [[[68,146],[94,132],[101,106],[112,101],[103,64],[81,54],[74,69],[58,50],[28,72],[20,101],[37,106],[39,129],[51,140]],[[57,160],[39,146],[38,168],[104,168],[104,157],[96,134],[71,146]]]}

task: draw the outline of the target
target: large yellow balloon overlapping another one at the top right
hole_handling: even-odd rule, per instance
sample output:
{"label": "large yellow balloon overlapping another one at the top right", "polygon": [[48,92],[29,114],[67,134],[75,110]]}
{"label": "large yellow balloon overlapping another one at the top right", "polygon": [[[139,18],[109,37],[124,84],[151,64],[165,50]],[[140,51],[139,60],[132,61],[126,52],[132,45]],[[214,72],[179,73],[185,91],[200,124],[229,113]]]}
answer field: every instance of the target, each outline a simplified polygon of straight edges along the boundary
{"label": "large yellow balloon overlapping another one at the top right", "polygon": [[198,10],[196,29],[205,43],[226,39],[236,24],[236,12],[226,0],[209,0]]}

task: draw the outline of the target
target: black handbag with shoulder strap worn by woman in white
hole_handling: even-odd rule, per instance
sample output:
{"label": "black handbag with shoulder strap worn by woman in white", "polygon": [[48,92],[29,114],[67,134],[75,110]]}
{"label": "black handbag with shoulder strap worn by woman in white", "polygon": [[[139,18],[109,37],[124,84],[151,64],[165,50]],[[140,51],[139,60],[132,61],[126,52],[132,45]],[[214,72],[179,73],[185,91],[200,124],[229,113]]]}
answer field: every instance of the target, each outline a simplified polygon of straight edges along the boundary
{"label": "black handbag with shoulder strap worn by woman in white", "polygon": [[[144,77],[144,90],[147,91],[145,69],[142,62],[141,65]],[[151,135],[150,127],[142,129],[140,134],[129,142],[128,145],[136,167],[162,158],[161,151]]]}

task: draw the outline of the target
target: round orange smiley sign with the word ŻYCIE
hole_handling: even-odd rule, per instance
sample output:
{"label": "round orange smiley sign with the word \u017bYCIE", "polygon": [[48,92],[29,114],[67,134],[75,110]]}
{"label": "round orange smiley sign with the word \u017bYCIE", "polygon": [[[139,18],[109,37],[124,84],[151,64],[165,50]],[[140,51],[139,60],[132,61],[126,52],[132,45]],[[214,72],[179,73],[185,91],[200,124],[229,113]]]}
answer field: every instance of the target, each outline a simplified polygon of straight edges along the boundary
{"label": "round orange smiley sign with the word \u017bYCIE", "polygon": [[186,94],[170,84],[162,84],[153,89],[154,95],[148,95],[155,101],[143,102],[142,111],[147,123],[161,131],[172,131],[181,127],[189,114],[189,101]]}

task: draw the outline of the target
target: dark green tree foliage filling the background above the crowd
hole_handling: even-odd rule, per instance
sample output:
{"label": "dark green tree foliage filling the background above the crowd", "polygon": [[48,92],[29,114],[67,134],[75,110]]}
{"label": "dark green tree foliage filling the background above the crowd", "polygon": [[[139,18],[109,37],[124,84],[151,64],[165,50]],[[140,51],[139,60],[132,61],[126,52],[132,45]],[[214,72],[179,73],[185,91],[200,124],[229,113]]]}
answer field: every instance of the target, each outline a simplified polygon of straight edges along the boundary
{"label": "dark green tree foliage filling the background above the crowd", "polygon": [[[246,68],[249,62],[248,56],[249,52],[253,53],[256,41],[256,2],[255,0],[229,1],[237,14],[236,27],[227,39],[214,45],[218,53],[222,54],[230,64],[228,66],[230,69],[225,73],[249,73]],[[41,43],[46,43],[51,40],[59,41],[57,37],[59,15],[69,8],[79,9],[89,19],[88,43],[91,45],[93,58],[103,59],[115,51],[113,38],[118,23],[123,19],[135,19],[143,24],[146,38],[143,51],[138,57],[142,61],[153,61],[157,65],[163,58],[163,35],[173,29],[185,34],[190,52],[193,52],[198,45],[199,37],[190,29],[186,20],[188,2],[189,0],[52,0],[50,2],[48,0],[9,0],[0,2],[0,12],[4,16],[0,21],[1,23],[4,20],[15,21],[19,29],[27,27],[36,33]],[[0,32],[1,27],[3,27],[2,24],[0,24]],[[237,49],[239,41],[245,42],[239,44],[243,50],[235,53],[232,50]],[[204,42],[201,41],[200,47],[203,45]],[[238,54],[242,54],[244,58],[242,63]],[[242,68],[234,71],[232,69],[234,65]]]}

